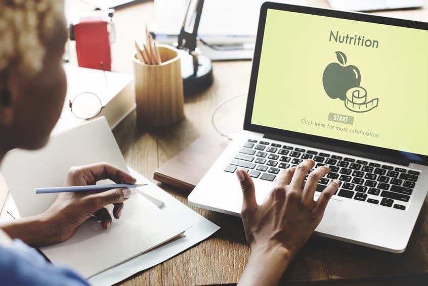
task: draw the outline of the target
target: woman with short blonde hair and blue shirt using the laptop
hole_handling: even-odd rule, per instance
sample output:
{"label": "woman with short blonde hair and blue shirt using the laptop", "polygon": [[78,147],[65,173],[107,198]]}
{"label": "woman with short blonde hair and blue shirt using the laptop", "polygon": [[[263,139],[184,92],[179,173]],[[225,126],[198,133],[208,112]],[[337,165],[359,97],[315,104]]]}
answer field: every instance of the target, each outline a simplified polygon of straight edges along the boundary
{"label": "woman with short blonde hair and blue shirt using the laptop", "polygon": [[[67,38],[63,3],[57,0],[0,0],[0,162],[14,148],[43,147],[64,104],[66,79],[62,55]],[[327,167],[315,169],[304,161],[282,172],[262,205],[255,202],[249,175],[237,171],[242,186],[242,219],[251,247],[242,284],[275,284],[320,222],[333,181],[313,201],[319,179]],[[101,179],[134,183],[131,175],[108,164],[70,169],[64,185],[94,184]],[[129,189],[97,194],[60,194],[44,213],[14,220],[0,228],[0,281],[5,284],[87,284],[72,270],[47,263],[33,247],[67,240],[92,215],[103,228],[112,218],[104,206],[113,204],[120,218]],[[102,231],[102,230],[100,230]],[[264,267],[260,267],[264,265]]]}

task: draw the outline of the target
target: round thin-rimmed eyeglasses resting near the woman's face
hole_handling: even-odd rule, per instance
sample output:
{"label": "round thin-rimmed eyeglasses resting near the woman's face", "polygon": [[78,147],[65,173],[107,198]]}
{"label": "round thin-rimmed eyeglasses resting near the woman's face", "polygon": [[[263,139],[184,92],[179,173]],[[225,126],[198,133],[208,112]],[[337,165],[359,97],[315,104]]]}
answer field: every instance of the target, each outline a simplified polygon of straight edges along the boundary
{"label": "round thin-rimmed eyeglasses resting near the woman's face", "polygon": [[63,110],[60,118],[69,118],[71,114],[78,119],[91,119],[100,114],[101,109],[105,106],[101,103],[100,98],[93,92],[82,92],[70,100],[68,103],[70,114]]}

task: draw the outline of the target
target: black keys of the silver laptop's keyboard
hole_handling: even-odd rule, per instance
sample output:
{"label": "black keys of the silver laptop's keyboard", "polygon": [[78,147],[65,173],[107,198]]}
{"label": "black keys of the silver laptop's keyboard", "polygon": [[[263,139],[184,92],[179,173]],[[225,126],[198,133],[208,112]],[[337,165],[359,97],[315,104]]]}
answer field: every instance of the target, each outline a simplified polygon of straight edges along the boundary
{"label": "black keys of the silver laptop's keyboard", "polygon": [[234,173],[243,169],[252,178],[274,181],[281,169],[295,167],[305,159],[314,160],[314,168],[330,168],[317,192],[322,192],[330,180],[338,179],[340,187],[334,195],[399,210],[406,209],[420,174],[404,167],[254,139],[245,142],[224,170]]}

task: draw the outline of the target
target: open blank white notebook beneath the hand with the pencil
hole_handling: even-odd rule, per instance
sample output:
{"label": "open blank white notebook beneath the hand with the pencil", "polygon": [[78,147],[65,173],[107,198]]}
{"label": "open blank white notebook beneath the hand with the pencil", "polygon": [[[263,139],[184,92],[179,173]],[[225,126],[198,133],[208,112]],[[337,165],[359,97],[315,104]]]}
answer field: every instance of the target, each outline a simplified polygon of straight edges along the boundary
{"label": "open blank white notebook beneath the hand with the pencil", "polygon": [[[62,185],[71,166],[96,162],[107,162],[127,171],[104,117],[52,136],[39,151],[9,152],[2,173],[20,215],[25,217],[45,211],[56,198],[56,194],[34,194],[35,187]],[[182,235],[192,226],[167,216],[141,192],[133,189],[121,218],[113,219],[109,229],[103,230],[100,222],[89,219],[71,239],[41,251],[54,264],[66,264],[89,278]]]}

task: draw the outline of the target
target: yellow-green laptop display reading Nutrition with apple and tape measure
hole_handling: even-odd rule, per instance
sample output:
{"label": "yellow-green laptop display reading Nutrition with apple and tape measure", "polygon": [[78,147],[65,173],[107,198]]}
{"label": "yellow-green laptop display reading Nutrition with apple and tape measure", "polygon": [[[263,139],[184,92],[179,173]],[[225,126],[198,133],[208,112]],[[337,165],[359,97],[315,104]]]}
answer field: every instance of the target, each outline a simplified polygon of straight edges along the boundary
{"label": "yellow-green laptop display reading Nutrition with apple and tape measure", "polygon": [[251,124],[428,155],[428,31],[267,9]]}

